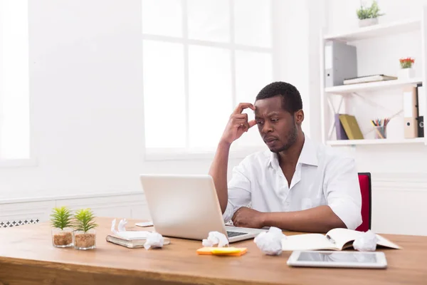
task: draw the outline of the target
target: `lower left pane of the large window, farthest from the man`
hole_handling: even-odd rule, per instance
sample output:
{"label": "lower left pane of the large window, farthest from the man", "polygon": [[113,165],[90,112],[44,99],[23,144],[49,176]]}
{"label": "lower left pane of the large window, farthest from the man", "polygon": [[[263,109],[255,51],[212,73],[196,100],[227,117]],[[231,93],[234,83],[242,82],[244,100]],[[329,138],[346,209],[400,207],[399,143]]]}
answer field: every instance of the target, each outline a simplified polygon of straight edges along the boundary
{"label": "lower left pane of the large window, farthest from the man", "polygon": [[185,147],[184,47],[143,41],[145,147]]}

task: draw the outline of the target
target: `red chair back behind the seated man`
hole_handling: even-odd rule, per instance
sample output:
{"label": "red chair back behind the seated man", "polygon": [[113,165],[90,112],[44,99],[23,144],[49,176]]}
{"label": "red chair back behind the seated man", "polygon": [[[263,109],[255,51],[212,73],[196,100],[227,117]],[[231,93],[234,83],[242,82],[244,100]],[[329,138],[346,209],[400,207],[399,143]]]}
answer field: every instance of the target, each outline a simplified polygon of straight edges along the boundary
{"label": "red chair back behind the seated man", "polygon": [[362,224],[356,230],[367,232],[371,229],[371,173],[359,173],[359,185],[362,195]]}

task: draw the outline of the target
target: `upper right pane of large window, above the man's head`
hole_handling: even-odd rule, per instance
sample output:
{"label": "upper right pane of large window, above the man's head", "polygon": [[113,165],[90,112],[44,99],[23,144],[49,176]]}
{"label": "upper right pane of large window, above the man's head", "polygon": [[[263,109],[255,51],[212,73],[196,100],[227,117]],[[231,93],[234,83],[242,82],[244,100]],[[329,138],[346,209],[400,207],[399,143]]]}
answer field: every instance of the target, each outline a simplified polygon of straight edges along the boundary
{"label": "upper right pane of large window, above the man's head", "polygon": [[235,41],[247,46],[270,48],[270,0],[234,0]]}

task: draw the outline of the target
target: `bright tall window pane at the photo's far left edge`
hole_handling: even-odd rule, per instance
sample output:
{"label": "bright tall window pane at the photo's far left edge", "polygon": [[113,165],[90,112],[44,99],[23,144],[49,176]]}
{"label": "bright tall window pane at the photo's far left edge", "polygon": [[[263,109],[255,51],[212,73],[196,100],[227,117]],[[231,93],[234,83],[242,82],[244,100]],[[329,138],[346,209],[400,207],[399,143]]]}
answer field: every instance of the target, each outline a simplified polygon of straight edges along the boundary
{"label": "bright tall window pane at the photo's far left edge", "polygon": [[0,158],[30,157],[27,1],[1,1]]}

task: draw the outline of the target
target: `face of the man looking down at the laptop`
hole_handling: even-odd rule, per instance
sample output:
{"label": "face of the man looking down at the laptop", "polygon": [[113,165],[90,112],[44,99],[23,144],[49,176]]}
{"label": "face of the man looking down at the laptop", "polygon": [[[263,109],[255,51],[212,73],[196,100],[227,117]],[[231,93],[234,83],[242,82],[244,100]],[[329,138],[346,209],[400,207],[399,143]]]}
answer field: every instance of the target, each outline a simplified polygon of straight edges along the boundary
{"label": "face of the man looking down at the laptop", "polygon": [[[302,110],[299,112],[303,114]],[[255,121],[261,138],[272,152],[288,150],[297,140],[295,116],[283,110],[279,95],[255,102]]]}

